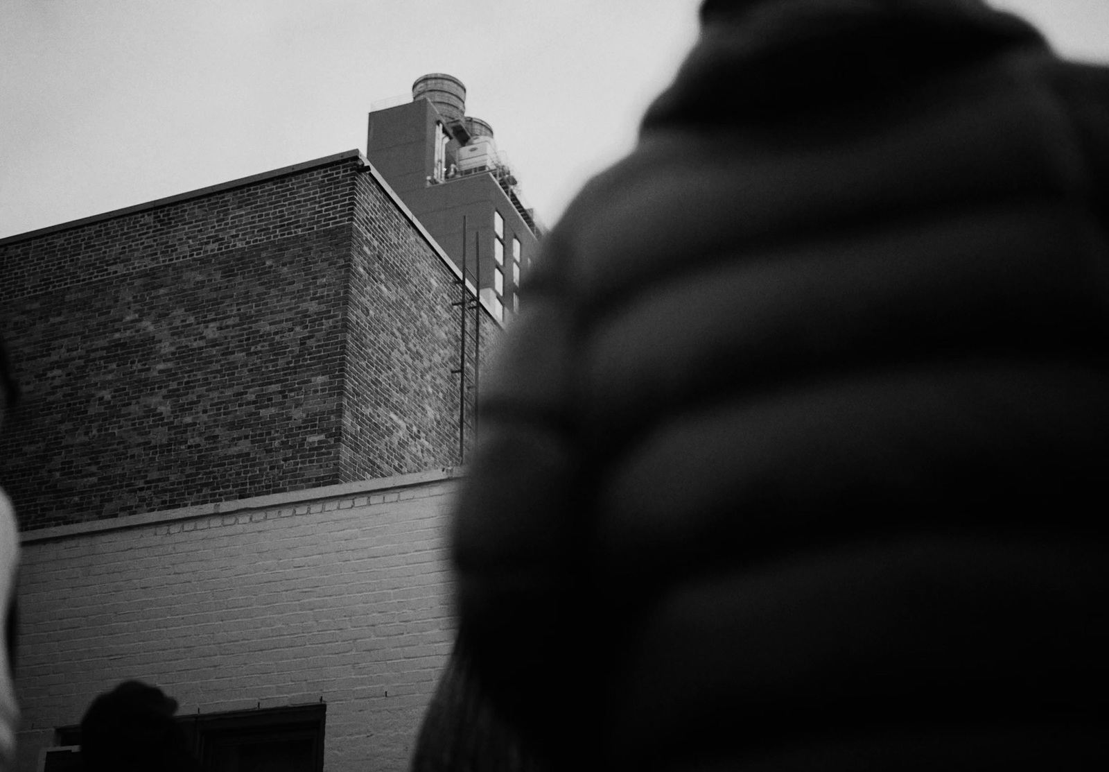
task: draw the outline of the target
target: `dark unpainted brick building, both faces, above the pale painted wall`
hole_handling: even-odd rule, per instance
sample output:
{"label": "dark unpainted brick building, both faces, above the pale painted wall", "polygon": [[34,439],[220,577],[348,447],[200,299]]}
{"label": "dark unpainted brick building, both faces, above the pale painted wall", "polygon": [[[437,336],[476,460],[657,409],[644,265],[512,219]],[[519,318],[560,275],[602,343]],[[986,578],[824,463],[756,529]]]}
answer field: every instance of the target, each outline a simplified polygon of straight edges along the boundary
{"label": "dark unpainted brick building, both faces, above the pale painted wall", "polygon": [[24,529],[458,463],[454,276],[359,169],[0,244]]}

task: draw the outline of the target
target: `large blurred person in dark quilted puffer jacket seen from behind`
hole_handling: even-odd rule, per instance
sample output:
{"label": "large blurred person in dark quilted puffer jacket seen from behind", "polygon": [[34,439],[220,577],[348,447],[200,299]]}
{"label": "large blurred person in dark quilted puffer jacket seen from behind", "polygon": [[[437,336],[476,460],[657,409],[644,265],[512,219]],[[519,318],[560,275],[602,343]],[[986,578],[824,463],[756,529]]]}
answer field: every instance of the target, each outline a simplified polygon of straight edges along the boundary
{"label": "large blurred person in dark quilted puffer jacket seen from behind", "polygon": [[416,769],[1105,769],[1109,71],[701,19],[482,378]]}

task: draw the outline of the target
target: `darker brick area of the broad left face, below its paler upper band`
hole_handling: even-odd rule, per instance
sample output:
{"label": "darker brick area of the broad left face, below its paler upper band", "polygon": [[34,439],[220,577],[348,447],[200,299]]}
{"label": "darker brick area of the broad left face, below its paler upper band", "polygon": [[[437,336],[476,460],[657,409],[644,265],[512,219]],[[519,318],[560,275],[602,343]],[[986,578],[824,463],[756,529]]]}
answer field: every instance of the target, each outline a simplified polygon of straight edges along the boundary
{"label": "darker brick area of the broad left face, below its paler upper band", "polygon": [[23,526],[339,481],[348,244],[333,227],[13,309],[27,400],[0,454]]}

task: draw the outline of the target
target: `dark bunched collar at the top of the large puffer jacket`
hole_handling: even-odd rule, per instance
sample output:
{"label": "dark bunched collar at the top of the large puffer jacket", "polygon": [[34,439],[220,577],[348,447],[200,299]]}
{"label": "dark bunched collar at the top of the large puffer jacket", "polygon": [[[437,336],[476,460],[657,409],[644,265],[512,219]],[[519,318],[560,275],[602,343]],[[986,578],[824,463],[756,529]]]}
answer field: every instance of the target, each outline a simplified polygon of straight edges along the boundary
{"label": "dark bunched collar at the top of the large puffer jacket", "polygon": [[1046,43],[978,0],[706,0],[698,45],[642,129],[849,108],[1019,45]]}

